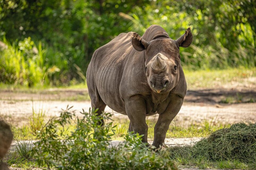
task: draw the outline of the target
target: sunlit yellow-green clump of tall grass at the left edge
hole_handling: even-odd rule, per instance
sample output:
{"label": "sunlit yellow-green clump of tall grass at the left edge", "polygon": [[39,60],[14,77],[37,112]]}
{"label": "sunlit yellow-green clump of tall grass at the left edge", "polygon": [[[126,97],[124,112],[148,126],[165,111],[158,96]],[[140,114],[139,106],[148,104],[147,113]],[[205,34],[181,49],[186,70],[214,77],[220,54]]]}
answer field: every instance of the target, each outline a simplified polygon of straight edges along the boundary
{"label": "sunlit yellow-green clump of tall grass at the left edge", "polygon": [[7,44],[6,49],[0,50],[0,81],[6,84],[22,84],[32,86],[43,80],[44,51],[39,43],[39,50],[30,37],[18,42],[18,45]]}

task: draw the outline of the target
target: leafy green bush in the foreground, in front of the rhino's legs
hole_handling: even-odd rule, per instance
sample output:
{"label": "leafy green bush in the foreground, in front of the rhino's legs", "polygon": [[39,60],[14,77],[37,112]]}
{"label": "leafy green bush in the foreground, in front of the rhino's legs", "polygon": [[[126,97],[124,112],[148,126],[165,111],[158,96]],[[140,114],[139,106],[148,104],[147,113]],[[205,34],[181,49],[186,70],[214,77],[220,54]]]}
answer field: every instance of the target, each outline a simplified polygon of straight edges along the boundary
{"label": "leafy green bush in the foreground, in front of the rhino's legs", "polygon": [[[71,108],[50,120],[38,134],[40,141],[35,143],[33,152],[39,165],[46,164],[48,169],[177,169],[172,161],[147,148],[138,134],[128,133],[124,142],[112,145],[115,126],[110,122],[105,128],[100,127],[97,109],[80,112],[83,118],[76,117],[75,130],[66,134],[64,126],[75,118]],[[104,119],[109,120],[110,116],[106,113]]]}

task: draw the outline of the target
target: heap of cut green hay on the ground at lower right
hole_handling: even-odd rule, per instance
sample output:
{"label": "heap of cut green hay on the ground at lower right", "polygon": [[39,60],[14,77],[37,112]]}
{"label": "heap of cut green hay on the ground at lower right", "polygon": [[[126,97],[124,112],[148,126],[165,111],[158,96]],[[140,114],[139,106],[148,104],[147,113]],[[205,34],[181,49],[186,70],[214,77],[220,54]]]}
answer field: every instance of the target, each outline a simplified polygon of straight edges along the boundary
{"label": "heap of cut green hay on the ground at lower right", "polygon": [[174,146],[168,148],[167,152],[170,159],[239,160],[256,164],[256,123],[236,123],[211,132],[193,146]]}

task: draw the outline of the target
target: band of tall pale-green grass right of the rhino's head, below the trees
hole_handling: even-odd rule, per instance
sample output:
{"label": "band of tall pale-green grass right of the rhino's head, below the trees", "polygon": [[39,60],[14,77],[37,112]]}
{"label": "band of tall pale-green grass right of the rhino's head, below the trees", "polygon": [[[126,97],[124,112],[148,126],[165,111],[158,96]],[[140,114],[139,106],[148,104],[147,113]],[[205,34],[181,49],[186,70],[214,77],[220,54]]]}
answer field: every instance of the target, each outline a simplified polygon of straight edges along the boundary
{"label": "band of tall pale-green grass right of the rhino's head, below the trees", "polygon": [[198,68],[227,68],[244,66],[246,68],[253,68],[256,65],[255,54],[256,49],[247,45],[242,47],[238,44],[232,51],[227,48],[217,45],[215,48],[206,46],[200,48],[191,44],[191,52],[181,52],[183,65],[190,69]]}

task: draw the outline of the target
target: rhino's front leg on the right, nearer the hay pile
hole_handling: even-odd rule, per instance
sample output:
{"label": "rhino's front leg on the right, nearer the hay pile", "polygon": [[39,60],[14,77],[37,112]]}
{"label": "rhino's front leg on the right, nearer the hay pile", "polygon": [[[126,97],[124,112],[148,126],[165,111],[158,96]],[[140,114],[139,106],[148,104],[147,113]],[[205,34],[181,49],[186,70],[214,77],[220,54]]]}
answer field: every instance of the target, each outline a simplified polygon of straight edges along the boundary
{"label": "rhino's front leg on the right, nearer the hay pile", "polygon": [[160,148],[164,144],[165,136],[169,125],[173,118],[180,111],[181,105],[183,103],[183,98],[178,95],[173,95],[171,97],[170,103],[164,113],[159,114],[158,120],[154,128],[154,141],[152,146]]}

